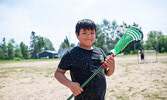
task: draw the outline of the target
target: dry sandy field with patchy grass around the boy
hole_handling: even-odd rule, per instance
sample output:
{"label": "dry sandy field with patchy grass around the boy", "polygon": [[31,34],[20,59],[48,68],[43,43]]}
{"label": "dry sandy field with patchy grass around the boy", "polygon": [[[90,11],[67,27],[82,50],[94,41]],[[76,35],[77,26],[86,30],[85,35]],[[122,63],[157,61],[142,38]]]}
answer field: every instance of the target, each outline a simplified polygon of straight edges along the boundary
{"label": "dry sandy field with patchy grass around the boy", "polygon": [[[167,100],[167,55],[159,55],[157,63],[139,64],[137,56],[115,62],[114,74],[106,77],[106,100]],[[0,63],[0,100],[66,100],[71,91],[53,76],[58,63]]]}

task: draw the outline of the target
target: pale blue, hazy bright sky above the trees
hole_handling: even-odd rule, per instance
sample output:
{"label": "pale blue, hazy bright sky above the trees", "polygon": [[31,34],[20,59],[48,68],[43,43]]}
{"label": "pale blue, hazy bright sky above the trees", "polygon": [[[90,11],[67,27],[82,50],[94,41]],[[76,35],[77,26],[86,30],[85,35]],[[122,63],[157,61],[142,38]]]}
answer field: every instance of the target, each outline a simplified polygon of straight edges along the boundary
{"label": "pale blue, hazy bright sky above the trees", "polygon": [[30,34],[49,38],[58,50],[66,36],[78,43],[75,25],[83,18],[100,24],[136,22],[147,38],[151,30],[167,35],[166,0],[0,0],[0,42],[14,38],[30,45]]}

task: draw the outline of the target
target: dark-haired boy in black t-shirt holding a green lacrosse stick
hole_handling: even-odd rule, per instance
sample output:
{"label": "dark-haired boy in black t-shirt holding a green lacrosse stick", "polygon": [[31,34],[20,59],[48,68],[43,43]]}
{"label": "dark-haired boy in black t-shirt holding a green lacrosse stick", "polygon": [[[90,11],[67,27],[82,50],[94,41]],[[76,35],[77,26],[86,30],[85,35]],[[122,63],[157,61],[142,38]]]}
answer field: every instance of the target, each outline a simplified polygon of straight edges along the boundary
{"label": "dark-haired boy in black t-shirt holding a green lacrosse stick", "polygon": [[[92,47],[95,32],[96,25],[92,20],[78,21],[75,33],[80,44],[64,54],[55,72],[55,78],[72,91],[75,100],[104,100],[105,75],[110,76],[114,72],[114,58],[106,57],[102,49]],[[83,89],[80,88],[80,85],[102,64],[101,56],[108,68],[101,70]],[[67,70],[70,70],[72,81],[64,75]]]}

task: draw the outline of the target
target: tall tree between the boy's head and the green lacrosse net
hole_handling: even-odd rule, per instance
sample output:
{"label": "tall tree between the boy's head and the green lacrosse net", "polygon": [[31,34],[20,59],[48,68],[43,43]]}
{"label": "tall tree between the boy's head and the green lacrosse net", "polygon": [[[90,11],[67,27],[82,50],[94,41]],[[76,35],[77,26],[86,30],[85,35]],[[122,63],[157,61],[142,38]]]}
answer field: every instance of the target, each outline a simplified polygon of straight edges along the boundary
{"label": "tall tree between the boy's head and the green lacrosse net", "polygon": [[117,30],[117,22],[114,20],[109,22],[104,19],[102,24],[97,24],[96,40],[94,45],[103,49],[105,53],[114,48],[122,33]]}

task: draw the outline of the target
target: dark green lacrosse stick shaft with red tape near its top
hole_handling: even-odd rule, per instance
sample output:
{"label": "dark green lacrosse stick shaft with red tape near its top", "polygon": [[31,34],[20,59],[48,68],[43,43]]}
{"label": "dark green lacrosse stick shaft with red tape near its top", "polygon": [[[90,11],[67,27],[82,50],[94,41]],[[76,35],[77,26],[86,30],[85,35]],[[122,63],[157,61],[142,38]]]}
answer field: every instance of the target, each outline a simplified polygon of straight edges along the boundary
{"label": "dark green lacrosse stick shaft with red tape near its top", "polygon": [[[115,55],[112,55],[115,57]],[[80,87],[84,88],[103,68],[106,67],[106,63],[104,62]],[[71,100],[73,98],[73,94],[67,98],[67,100]]]}

